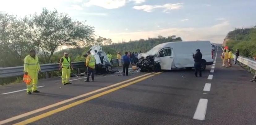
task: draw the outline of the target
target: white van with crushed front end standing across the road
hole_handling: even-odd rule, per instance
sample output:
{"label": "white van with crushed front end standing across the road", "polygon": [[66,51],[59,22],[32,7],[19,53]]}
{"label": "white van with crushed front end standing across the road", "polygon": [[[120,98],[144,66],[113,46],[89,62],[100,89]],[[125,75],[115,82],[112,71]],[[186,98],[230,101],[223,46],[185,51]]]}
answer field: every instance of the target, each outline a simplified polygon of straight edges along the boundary
{"label": "white van with crushed front end standing across the road", "polygon": [[153,47],[145,54],[139,54],[138,67],[142,71],[171,70],[194,67],[193,53],[200,49],[203,54],[201,69],[213,64],[210,41],[166,42]]}

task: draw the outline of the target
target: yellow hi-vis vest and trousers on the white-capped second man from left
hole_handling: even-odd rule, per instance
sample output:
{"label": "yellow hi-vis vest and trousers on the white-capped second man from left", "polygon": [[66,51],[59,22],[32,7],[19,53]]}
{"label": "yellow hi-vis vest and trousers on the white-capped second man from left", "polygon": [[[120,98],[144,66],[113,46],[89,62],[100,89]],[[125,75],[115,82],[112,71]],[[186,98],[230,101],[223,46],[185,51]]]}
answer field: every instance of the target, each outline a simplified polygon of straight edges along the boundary
{"label": "yellow hi-vis vest and trousers on the white-capped second man from left", "polygon": [[66,59],[64,56],[62,57],[63,62],[62,62],[62,84],[69,83],[70,79],[70,73],[71,73],[71,67],[70,67],[70,58]]}

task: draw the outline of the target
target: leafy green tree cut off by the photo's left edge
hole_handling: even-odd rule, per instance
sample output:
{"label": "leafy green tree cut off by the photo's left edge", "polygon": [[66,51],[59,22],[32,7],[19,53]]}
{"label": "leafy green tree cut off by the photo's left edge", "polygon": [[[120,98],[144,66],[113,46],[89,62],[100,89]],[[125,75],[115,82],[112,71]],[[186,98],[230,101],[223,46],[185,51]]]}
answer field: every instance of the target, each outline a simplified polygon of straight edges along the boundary
{"label": "leafy green tree cut off by the photo's left edge", "polygon": [[0,11],[0,67],[20,66],[32,48],[23,34],[24,24],[16,16]]}

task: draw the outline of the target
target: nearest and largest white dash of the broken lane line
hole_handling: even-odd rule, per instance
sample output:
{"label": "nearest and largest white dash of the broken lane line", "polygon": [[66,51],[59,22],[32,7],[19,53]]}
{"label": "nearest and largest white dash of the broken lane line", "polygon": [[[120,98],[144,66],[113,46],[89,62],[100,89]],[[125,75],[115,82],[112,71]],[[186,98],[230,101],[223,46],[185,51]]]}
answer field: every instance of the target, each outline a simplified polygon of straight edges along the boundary
{"label": "nearest and largest white dash of the broken lane line", "polygon": [[193,119],[204,120],[207,110],[208,99],[200,99],[196,107]]}

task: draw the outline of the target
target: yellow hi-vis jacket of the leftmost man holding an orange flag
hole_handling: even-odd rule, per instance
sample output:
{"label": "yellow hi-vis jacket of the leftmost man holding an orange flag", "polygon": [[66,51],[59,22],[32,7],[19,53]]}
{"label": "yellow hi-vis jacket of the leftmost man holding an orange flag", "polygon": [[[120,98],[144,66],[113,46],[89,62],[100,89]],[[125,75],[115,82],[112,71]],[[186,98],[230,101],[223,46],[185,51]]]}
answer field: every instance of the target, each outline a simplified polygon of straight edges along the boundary
{"label": "yellow hi-vis jacket of the leftmost man holding an orange flag", "polygon": [[40,65],[39,65],[39,61],[38,61],[38,57],[35,56],[35,58],[33,58],[30,55],[27,55],[24,59],[24,72],[29,72],[29,71],[40,71]]}

